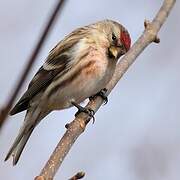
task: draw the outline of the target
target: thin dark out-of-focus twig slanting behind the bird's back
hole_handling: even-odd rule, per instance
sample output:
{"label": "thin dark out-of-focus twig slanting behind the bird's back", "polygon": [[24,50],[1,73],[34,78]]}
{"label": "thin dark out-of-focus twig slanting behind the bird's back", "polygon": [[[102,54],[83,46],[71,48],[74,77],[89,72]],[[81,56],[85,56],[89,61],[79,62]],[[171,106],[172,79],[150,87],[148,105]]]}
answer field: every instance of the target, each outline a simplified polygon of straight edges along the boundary
{"label": "thin dark out-of-focus twig slanting behind the bird's back", "polygon": [[49,17],[49,20],[47,21],[47,24],[44,28],[43,33],[40,36],[39,40],[37,41],[37,44],[36,44],[34,50],[32,51],[31,56],[29,57],[29,59],[27,61],[28,63],[25,66],[20,79],[18,80],[16,87],[13,90],[12,96],[9,98],[6,105],[0,110],[0,128],[4,124],[5,119],[7,118],[8,112],[12,107],[12,104],[14,103],[22,85],[24,84],[24,82],[27,78],[28,73],[30,72],[40,50],[42,49],[42,46],[50,32],[50,29],[58,15],[58,13],[60,12],[60,10],[62,11],[62,8],[64,7],[64,4],[66,1],[67,0],[58,0],[56,6],[54,7],[52,14]]}

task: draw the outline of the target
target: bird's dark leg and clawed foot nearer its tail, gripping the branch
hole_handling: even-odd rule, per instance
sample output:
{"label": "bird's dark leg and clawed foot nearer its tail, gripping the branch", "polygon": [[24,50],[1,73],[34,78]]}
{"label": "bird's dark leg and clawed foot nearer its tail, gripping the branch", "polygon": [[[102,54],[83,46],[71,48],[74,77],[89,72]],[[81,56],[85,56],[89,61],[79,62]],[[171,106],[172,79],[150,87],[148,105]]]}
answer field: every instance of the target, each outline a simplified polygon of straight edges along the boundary
{"label": "bird's dark leg and clawed foot nearer its tail, gripping the branch", "polygon": [[80,106],[79,104],[77,104],[77,103],[75,103],[75,102],[71,102],[71,104],[78,109],[78,111],[77,111],[76,114],[75,114],[75,117],[76,117],[79,113],[84,112],[84,113],[88,114],[89,117],[93,118],[93,123],[95,122],[95,117],[94,117],[95,112],[94,112],[92,109],[82,107],[82,106]]}

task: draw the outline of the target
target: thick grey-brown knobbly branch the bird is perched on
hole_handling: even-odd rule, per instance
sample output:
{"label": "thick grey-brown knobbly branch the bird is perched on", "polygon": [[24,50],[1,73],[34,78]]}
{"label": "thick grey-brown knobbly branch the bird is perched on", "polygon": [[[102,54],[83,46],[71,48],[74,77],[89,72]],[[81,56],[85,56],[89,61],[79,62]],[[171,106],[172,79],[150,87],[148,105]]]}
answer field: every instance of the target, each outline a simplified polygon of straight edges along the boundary
{"label": "thick grey-brown knobbly branch the bird is perched on", "polygon": [[[162,24],[165,22],[174,3],[175,0],[165,0],[154,20],[151,23],[147,23],[146,21],[144,32],[135,42],[129,52],[118,63],[115,74],[107,85],[107,95],[111,92],[120,78],[128,70],[135,59],[141,54],[141,52],[152,42],[159,42],[157,33],[160,30]],[[91,108],[96,112],[102,103],[103,100],[101,97],[97,97],[96,99],[90,101],[86,107]],[[71,123],[68,124],[68,126],[66,126],[67,130],[55,148],[54,152],[50,156],[46,165],[42,169],[40,173],[41,177],[44,177],[45,180],[53,179],[72,145],[80,136],[80,134],[85,130],[89,120],[90,119],[87,114],[80,113]]]}

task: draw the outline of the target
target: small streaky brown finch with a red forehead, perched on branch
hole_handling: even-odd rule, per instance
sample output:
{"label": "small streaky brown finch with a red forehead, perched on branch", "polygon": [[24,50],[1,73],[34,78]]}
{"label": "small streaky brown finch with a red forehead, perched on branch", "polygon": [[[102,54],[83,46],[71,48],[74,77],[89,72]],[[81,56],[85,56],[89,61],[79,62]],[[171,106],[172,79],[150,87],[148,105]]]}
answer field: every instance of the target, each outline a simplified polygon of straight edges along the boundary
{"label": "small streaky brown finch with a red forehead, perched on branch", "polygon": [[93,111],[79,104],[103,95],[118,58],[131,46],[128,31],[112,20],[78,28],[60,41],[31,80],[10,115],[26,110],[24,123],[5,160],[15,165],[37,124],[53,110],[72,106],[91,117]]}

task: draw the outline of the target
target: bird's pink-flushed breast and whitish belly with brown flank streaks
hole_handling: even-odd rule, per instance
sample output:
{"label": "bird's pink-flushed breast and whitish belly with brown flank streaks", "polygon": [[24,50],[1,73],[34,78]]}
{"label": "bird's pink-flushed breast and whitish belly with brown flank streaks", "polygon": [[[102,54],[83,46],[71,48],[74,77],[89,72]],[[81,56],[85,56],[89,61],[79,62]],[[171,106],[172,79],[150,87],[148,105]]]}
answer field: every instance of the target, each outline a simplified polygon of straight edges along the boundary
{"label": "bird's pink-flushed breast and whitish belly with brown flank streaks", "polygon": [[71,106],[71,101],[80,103],[103,89],[111,79],[115,62],[107,59],[105,53],[91,51],[74,67],[76,71],[59,84],[51,97],[56,109]]}

